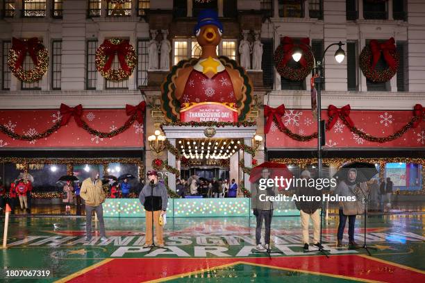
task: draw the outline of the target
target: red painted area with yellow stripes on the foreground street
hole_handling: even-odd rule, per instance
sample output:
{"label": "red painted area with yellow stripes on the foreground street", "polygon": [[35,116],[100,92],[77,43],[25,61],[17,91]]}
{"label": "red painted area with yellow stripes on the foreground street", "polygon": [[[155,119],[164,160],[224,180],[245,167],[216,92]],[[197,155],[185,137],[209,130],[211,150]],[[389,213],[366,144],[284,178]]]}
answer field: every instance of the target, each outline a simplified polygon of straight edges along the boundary
{"label": "red painted area with yellow stripes on the foreground street", "polygon": [[[310,257],[267,257],[231,259],[113,259],[87,273],[78,275],[68,282],[144,282],[164,280],[167,277],[185,276],[188,273],[208,271],[226,264],[246,263],[283,268],[293,271],[332,277],[353,278],[399,283],[401,278],[411,282],[425,282],[425,273],[414,268],[403,267],[387,261],[378,261],[359,255],[337,255]],[[72,275],[71,275],[72,277]]]}

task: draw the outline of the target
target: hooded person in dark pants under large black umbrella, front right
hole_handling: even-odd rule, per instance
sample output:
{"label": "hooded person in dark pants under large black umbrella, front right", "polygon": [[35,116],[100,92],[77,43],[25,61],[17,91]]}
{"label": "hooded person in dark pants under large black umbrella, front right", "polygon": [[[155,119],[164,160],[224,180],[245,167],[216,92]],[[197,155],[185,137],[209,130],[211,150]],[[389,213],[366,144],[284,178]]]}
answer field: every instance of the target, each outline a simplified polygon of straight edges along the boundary
{"label": "hooded person in dark pants under large black umbrella, front right", "polygon": [[349,248],[358,248],[358,244],[354,241],[354,227],[356,225],[356,215],[363,214],[365,211],[365,204],[363,202],[362,190],[367,190],[365,182],[358,183],[357,170],[349,169],[345,180],[341,180],[338,187],[335,189],[335,194],[338,196],[351,196],[355,197],[355,201],[340,202],[340,224],[338,225],[337,246],[342,247],[342,238],[344,234],[345,223],[349,218]]}

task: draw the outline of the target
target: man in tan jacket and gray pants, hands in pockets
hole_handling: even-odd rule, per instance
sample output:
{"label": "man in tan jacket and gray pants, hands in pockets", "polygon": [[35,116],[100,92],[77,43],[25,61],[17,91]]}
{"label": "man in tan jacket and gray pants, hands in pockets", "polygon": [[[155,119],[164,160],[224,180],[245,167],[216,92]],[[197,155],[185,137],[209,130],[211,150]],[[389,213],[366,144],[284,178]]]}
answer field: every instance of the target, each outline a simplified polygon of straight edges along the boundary
{"label": "man in tan jacket and gray pants, hands in pockets", "polygon": [[102,189],[102,181],[99,180],[98,171],[93,170],[90,173],[90,178],[83,181],[83,185],[81,185],[80,189],[80,196],[85,200],[85,240],[91,241],[92,239],[92,212],[94,210],[99,219],[101,241],[106,241],[102,206],[103,201],[105,201],[105,192]]}

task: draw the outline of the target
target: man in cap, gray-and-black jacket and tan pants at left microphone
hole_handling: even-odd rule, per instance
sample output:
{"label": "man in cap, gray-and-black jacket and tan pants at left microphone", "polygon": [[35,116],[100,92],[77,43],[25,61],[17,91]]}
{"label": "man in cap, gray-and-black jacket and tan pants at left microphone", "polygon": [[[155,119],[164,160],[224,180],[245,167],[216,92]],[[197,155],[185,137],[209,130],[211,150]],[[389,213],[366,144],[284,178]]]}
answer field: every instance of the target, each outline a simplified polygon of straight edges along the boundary
{"label": "man in cap, gray-and-black jacket and tan pants at left microphone", "polygon": [[154,170],[147,173],[149,182],[144,185],[139,194],[140,203],[146,210],[146,241],[144,247],[152,246],[153,243],[153,227],[155,225],[156,246],[164,246],[163,226],[160,225],[160,217],[165,216],[167,211],[168,194],[167,188],[162,182],[158,182],[158,173]]}

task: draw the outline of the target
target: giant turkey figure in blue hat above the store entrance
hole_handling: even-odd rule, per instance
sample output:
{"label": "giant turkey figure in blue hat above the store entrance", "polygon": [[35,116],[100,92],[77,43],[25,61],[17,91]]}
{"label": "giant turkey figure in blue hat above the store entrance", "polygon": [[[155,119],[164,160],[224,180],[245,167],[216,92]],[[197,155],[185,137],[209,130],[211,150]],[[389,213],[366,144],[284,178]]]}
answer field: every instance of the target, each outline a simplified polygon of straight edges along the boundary
{"label": "giant turkey figure in blue hat above the store entrance", "polygon": [[224,56],[217,57],[222,34],[223,26],[217,12],[201,11],[194,27],[194,35],[202,49],[200,58],[178,62],[161,86],[161,105],[167,121],[194,121],[187,115],[188,110],[214,111],[216,114],[233,112],[233,118],[225,120],[215,119],[213,115],[197,116],[201,117],[200,121],[244,121],[247,117],[252,101],[252,83],[238,62]]}

